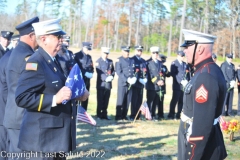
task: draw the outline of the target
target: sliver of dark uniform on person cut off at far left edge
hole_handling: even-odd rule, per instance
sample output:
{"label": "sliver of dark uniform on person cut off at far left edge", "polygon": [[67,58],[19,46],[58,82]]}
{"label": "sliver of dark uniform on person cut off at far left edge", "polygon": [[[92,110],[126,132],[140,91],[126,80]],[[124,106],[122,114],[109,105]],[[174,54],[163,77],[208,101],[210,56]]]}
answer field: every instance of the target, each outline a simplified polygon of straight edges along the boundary
{"label": "sliver of dark uniform on person cut off at far left edge", "polygon": [[[3,119],[5,114],[5,107],[7,102],[7,82],[6,82],[6,67],[9,60],[11,52],[8,51],[4,56],[0,59],[0,151],[8,151],[9,142],[7,136],[7,129],[3,126]],[[5,160],[7,158],[0,156],[0,160]]]}

